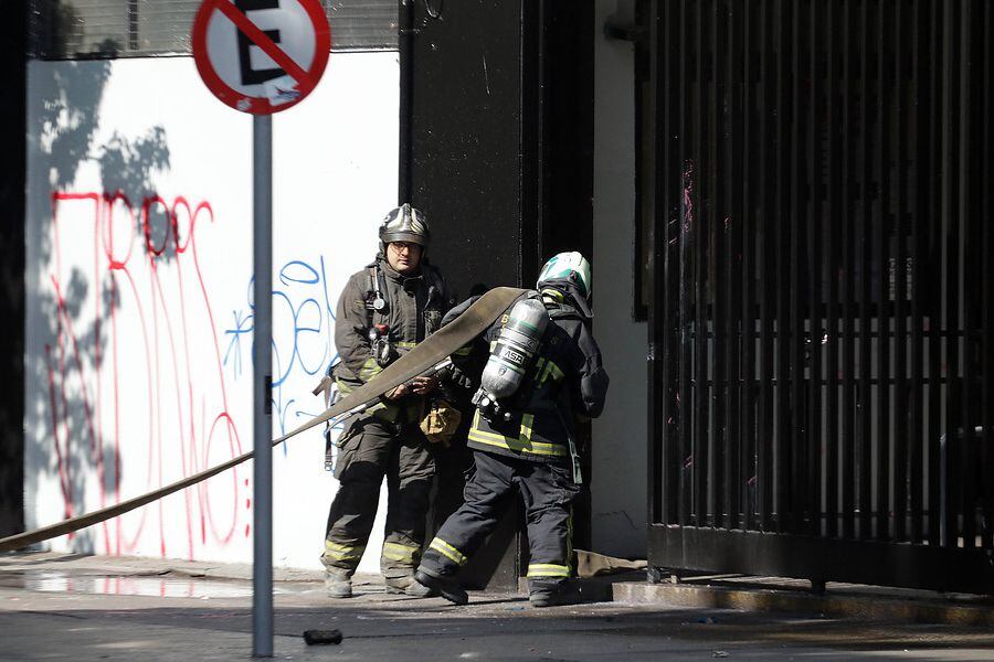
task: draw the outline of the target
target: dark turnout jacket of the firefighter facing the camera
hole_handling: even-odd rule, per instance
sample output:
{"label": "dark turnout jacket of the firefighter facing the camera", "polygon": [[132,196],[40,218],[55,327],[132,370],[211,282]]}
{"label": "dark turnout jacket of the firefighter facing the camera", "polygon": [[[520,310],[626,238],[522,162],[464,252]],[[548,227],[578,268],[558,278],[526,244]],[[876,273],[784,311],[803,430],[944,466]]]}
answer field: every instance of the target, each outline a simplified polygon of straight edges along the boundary
{"label": "dark turnout jacket of the firefighter facing the camera", "polygon": [[[379,271],[379,274],[378,274]],[[385,307],[373,309],[379,297]],[[352,274],[336,307],[335,345],[340,362],[334,369],[339,393],[348,394],[378,375],[383,367],[409,352],[438,330],[451,297],[435,267],[422,261],[420,271],[404,276],[394,270],[383,254],[361,271]],[[377,362],[370,329],[387,327],[391,353],[384,365]],[[389,421],[413,423],[420,417],[423,396],[382,401],[368,412]]]}

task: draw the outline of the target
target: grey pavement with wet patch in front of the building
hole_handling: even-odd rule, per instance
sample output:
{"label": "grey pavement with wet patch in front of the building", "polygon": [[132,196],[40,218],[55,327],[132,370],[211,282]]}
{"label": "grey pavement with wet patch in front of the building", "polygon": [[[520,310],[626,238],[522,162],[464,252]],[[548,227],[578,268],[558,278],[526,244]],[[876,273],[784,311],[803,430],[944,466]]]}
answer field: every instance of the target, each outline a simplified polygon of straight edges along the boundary
{"label": "grey pavement with wet patch in front of the building", "polygon": [[[275,575],[277,659],[994,660],[990,628],[635,601],[539,610],[524,595],[489,592],[454,607],[388,595],[376,577],[360,577],[356,598],[330,600],[318,573]],[[635,581],[611,590],[617,598],[638,586],[781,590]],[[0,660],[245,660],[251,591],[244,565],[0,555]],[[345,636],[339,645],[302,638],[332,628]]]}

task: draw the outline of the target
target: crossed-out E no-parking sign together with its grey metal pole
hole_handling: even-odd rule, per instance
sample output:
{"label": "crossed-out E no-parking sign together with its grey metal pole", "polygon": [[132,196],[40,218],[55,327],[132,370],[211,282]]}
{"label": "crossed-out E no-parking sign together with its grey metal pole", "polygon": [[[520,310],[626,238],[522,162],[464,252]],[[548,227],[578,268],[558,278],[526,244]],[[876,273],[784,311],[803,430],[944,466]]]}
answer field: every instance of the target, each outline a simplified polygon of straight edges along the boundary
{"label": "crossed-out E no-parking sign together with its grey metal pole", "polygon": [[317,86],[331,34],[319,0],[204,0],[193,20],[197,71],[252,118],[252,654],[273,656],[273,113]]}

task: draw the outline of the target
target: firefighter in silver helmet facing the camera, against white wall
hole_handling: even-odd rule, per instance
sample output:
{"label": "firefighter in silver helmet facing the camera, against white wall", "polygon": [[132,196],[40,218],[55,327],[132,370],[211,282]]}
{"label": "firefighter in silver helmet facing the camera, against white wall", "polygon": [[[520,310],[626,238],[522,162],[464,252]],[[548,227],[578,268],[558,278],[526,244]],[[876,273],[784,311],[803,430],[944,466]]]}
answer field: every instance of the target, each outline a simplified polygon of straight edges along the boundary
{"label": "firefighter in silver helmet facing the camera, against white wall", "polygon": [[[430,233],[419,210],[392,210],[379,229],[376,260],[349,279],[336,308],[332,375],[348,394],[438,329],[451,299],[440,271],[425,260]],[[343,421],[335,477],[339,489],[328,513],[321,563],[328,596],[352,595],[351,577],[366,549],[380,484],[387,477],[385,541],[380,568],[387,590],[424,597],[414,581],[424,542],[434,445],[419,428],[444,375],[417,377]]]}

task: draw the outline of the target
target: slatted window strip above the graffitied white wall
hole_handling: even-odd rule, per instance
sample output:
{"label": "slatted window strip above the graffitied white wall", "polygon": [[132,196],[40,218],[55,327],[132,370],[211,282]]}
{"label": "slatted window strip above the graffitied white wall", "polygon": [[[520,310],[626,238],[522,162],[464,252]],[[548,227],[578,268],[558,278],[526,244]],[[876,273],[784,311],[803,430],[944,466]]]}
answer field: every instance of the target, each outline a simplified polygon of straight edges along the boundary
{"label": "slatted window strip above the graffitied white wall", "polygon": [[[289,1],[289,0],[282,0]],[[201,0],[29,0],[29,55],[91,60],[184,55]],[[321,0],[332,51],[396,49],[398,0]]]}

